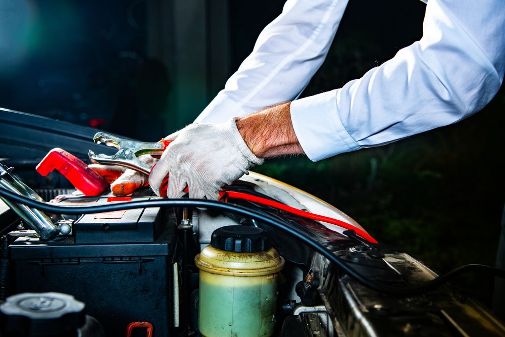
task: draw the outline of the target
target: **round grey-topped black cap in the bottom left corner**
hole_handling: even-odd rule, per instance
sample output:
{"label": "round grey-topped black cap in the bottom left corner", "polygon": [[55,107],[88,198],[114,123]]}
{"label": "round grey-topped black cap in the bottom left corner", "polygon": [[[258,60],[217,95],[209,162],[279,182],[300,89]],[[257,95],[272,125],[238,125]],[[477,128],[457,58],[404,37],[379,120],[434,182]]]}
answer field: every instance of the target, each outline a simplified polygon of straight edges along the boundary
{"label": "round grey-topped black cap in the bottom left corner", "polygon": [[84,303],[61,293],[23,293],[0,306],[0,330],[21,336],[59,336],[86,320]]}

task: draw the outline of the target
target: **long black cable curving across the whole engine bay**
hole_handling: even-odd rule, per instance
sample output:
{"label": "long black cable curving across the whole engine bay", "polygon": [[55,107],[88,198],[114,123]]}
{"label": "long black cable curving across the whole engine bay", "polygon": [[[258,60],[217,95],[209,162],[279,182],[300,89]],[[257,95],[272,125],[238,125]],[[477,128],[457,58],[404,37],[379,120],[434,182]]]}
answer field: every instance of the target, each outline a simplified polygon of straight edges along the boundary
{"label": "long black cable curving across the whole engine bay", "polygon": [[212,208],[221,211],[228,211],[237,213],[243,216],[251,217],[265,223],[268,223],[274,227],[277,227],[288,234],[294,236],[301,242],[305,243],[307,246],[314,249],[316,252],[327,258],[331,263],[342,268],[349,276],[354,278],[359,283],[371,288],[380,293],[394,295],[394,296],[413,296],[422,294],[433,290],[434,288],[444,284],[449,279],[461,275],[467,272],[482,272],[491,274],[498,277],[505,278],[505,270],[493,268],[490,266],[480,265],[480,264],[468,264],[458,267],[450,272],[443,274],[428,281],[424,284],[418,286],[408,286],[408,287],[397,287],[387,284],[382,284],[374,282],[368,279],[366,276],[358,273],[356,270],[352,269],[346,262],[340,260],[332,252],[321,246],[316,240],[308,237],[305,233],[301,232],[296,228],[292,228],[284,224],[282,221],[277,220],[273,216],[266,213],[262,213],[255,210],[249,210],[245,207],[233,204],[227,204],[212,200],[203,199],[159,199],[159,200],[149,200],[149,201],[132,201],[125,203],[113,203],[110,205],[103,206],[56,206],[49,203],[38,202],[29,198],[19,196],[13,192],[10,192],[4,188],[0,188],[0,197],[12,200],[17,203],[21,203],[44,212],[49,213],[65,213],[65,214],[89,214],[89,213],[102,213],[102,212],[112,212],[119,210],[135,209],[135,208],[149,208],[149,207],[205,207]]}

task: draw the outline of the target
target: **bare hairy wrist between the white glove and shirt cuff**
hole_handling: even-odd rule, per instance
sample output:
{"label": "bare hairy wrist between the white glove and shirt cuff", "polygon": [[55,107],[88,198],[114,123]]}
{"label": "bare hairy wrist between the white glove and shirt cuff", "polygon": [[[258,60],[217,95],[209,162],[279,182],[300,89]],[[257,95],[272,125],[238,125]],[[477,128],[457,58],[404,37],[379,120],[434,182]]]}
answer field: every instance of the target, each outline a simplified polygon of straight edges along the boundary
{"label": "bare hairy wrist between the white glove and shirt cuff", "polygon": [[291,123],[290,105],[279,103],[237,120],[238,131],[257,157],[304,153]]}

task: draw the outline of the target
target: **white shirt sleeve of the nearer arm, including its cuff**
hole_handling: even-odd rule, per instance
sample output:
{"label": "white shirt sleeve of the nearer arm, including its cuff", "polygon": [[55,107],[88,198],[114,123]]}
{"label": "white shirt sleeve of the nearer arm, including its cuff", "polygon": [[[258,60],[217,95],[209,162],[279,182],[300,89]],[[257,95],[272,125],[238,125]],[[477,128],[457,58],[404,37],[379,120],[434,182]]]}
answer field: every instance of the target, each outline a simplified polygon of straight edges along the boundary
{"label": "white shirt sleeve of the nearer arm, including its cuff", "polygon": [[342,88],[291,103],[313,160],[456,123],[481,110],[505,71],[505,2],[430,0],[421,40]]}

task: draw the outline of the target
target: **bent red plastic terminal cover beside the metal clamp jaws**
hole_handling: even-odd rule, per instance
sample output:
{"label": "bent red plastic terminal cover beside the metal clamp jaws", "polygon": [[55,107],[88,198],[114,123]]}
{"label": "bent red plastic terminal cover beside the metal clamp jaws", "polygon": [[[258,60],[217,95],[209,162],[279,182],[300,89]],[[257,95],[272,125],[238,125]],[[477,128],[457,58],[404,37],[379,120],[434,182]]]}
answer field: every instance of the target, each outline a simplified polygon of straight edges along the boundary
{"label": "bent red plastic terminal cover beside the metal clamp jaws", "polygon": [[43,176],[58,170],[88,197],[99,196],[109,187],[109,183],[86,163],[60,148],[49,151],[35,169]]}

